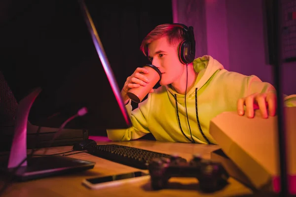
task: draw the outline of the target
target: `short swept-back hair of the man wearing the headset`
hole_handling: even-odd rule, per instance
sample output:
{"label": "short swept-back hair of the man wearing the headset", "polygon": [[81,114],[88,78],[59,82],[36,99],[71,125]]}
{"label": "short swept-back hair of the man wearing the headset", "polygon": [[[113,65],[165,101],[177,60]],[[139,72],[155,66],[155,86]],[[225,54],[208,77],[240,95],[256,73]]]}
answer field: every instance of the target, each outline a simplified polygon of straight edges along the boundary
{"label": "short swept-back hair of the man wearing the headset", "polygon": [[185,33],[182,31],[182,27],[174,24],[162,24],[158,25],[143,39],[140,46],[140,50],[144,55],[148,56],[148,45],[163,37],[167,36],[169,44],[179,44],[185,39]]}

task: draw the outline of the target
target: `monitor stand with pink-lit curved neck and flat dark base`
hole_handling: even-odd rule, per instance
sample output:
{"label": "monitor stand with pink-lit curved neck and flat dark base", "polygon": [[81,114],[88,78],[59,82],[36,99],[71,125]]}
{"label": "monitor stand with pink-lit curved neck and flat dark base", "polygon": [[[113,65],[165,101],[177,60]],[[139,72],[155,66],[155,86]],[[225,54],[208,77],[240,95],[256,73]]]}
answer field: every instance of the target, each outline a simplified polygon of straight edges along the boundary
{"label": "monitor stand with pink-lit curved neck and flat dark base", "polygon": [[[19,103],[9,158],[2,158],[1,169],[12,174],[19,181],[60,175],[93,168],[95,163],[66,156],[28,157],[27,123],[29,112],[41,92],[36,88]],[[28,157],[28,161],[27,161]],[[4,166],[3,166],[4,165]]]}

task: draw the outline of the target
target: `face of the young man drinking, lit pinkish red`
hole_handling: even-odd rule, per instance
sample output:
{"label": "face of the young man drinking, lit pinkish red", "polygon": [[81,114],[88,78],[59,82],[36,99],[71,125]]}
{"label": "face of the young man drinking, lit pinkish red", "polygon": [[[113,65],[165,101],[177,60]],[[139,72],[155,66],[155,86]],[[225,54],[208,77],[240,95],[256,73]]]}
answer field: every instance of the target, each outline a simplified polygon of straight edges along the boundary
{"label": "face of the young man drinking, lit pinkish red", "polygon": [[178,46],[170,45],[166,36],[148,45],[148,57],[152,65],[162,73],[160,85],[176,82],[182,75],[184,66],[178,56]]}

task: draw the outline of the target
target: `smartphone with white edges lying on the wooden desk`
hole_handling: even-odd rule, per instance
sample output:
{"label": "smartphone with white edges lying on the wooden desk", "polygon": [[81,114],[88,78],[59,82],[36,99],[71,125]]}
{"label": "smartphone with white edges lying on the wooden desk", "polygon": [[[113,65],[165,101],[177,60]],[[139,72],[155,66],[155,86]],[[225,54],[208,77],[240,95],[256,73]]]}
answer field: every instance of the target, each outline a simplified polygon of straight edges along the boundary
{"label": "smartphone with white edges lying on the wooden desk", "polygon": [[100,189],[104,187],[116,186],[125,182],[138,181],[140,179],[148,178],[149,174],[141,171],[116,174],[104,177],[88,178],[82,181],[82,184],[90,189]]}

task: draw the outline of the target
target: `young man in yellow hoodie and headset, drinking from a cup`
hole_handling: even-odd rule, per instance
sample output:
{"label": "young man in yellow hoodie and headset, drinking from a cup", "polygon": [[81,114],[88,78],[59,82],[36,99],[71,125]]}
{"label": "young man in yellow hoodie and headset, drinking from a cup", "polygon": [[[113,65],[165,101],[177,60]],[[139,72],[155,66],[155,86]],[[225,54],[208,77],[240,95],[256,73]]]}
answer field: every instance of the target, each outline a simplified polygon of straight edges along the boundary
{"label": "young man in yellow hoodie and headset, drinking from a cup", "polygon": [[262,118],[275,115],[271,84],[254,75],[229,72],[211,56],[194,60],[194,49],[193,30],[183,25],[163,24],[148,33],[141,50],[162,73],[161,86],[132,111],[127,92],[149,83],[148,70],[139,67],[127,78],[121,94],[133,126],[107,130],[111,140],[137,139],[151,132],[160,141],[215,144],[209,125],[222,112],[237,111],[252,118],[257,104]]}

